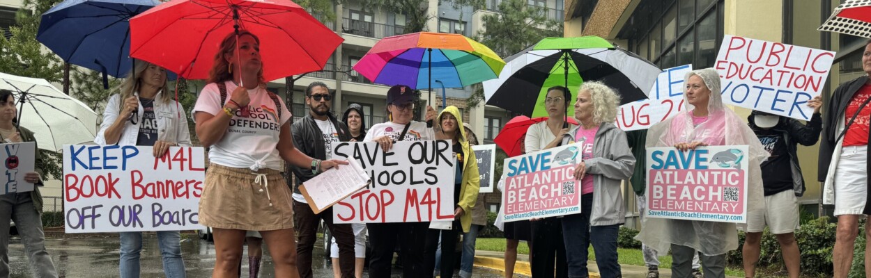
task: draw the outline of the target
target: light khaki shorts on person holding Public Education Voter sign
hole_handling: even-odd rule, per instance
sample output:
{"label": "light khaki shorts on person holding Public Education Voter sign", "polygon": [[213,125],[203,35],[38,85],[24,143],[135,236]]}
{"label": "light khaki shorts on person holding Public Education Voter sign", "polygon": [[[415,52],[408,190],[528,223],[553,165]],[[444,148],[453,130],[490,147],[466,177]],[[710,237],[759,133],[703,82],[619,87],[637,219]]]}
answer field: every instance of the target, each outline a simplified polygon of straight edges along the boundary
{"label": "light khaki shorts on person holding Public Education Voter sign", "polygon": [[793,190],[765,196],[765,209],[747,212],[746,232],[761,233],[766,225],[774,235],[792,233],[799,227],[799,201]]}

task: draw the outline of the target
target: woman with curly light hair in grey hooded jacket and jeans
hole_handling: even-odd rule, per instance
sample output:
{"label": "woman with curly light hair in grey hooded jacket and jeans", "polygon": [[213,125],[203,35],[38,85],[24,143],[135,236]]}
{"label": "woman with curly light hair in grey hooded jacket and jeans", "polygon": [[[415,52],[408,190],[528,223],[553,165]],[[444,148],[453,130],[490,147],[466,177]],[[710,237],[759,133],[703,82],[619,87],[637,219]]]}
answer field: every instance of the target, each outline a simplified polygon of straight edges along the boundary
{"label": "woman with curly light hair in grey hooded jacket and jeans", "polygon": [[584,82],[577,93],[575,119],[579,126],[563,135],[567,145],[581,142],[582,160],[577,163],[576,187],[581,190],[581,213],[563,217],[563,241],[569,277],[589,277],[588,248],[593,245],[602,277],[620,277],[617,235],[625,222],[620,182],[629,179],[635,156],[623,130],[612,122],[617,117],[620,96],[599,82]]}

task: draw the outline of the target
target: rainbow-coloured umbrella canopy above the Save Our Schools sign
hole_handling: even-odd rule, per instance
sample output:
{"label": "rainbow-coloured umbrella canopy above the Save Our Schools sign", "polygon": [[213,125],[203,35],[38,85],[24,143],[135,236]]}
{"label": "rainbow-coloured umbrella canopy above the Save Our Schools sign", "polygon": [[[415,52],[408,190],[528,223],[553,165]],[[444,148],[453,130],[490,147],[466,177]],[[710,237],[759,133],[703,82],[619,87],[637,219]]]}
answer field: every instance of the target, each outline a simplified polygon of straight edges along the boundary
{"label": "rainbow-coloured umbrella canopy above the Save Our Schools sign", "polygon": [[388,36],[354,64],[373,83],[412,89],[460,88],[499,76],[505,66],[493,50],[466,36],[418,32]]}

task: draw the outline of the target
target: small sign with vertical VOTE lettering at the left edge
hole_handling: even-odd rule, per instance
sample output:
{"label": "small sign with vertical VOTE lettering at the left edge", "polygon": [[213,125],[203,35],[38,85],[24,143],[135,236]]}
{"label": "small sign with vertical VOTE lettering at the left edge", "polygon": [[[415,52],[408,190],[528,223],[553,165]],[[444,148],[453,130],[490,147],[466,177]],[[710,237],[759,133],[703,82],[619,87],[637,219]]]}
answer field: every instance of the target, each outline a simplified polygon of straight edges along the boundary
{"label": "small sign with vertical VOTE lettering at the left edge", "polygon": [[7,193],[33,191],[33,183],[24,182],[24,175],[33,172],[36,162],[37,144],[34,142],[17,142],[0,144],[0,161],[3,162],[3,173],[0,175],[0,195]]}

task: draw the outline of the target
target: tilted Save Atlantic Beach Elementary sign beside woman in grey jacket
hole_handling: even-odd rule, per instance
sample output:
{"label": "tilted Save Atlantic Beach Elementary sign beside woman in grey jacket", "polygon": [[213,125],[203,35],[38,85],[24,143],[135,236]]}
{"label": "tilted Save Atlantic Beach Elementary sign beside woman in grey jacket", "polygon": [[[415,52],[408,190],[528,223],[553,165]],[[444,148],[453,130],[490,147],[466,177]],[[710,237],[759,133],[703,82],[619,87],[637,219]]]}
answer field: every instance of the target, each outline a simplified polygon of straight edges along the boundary
{"label": "tilted Save Atlantic Beach Elementary sign beside woman in grey jacket", "polygon": [[580,182],[572,175],[582,142],[505,159],[505,222],[581,213]]}

